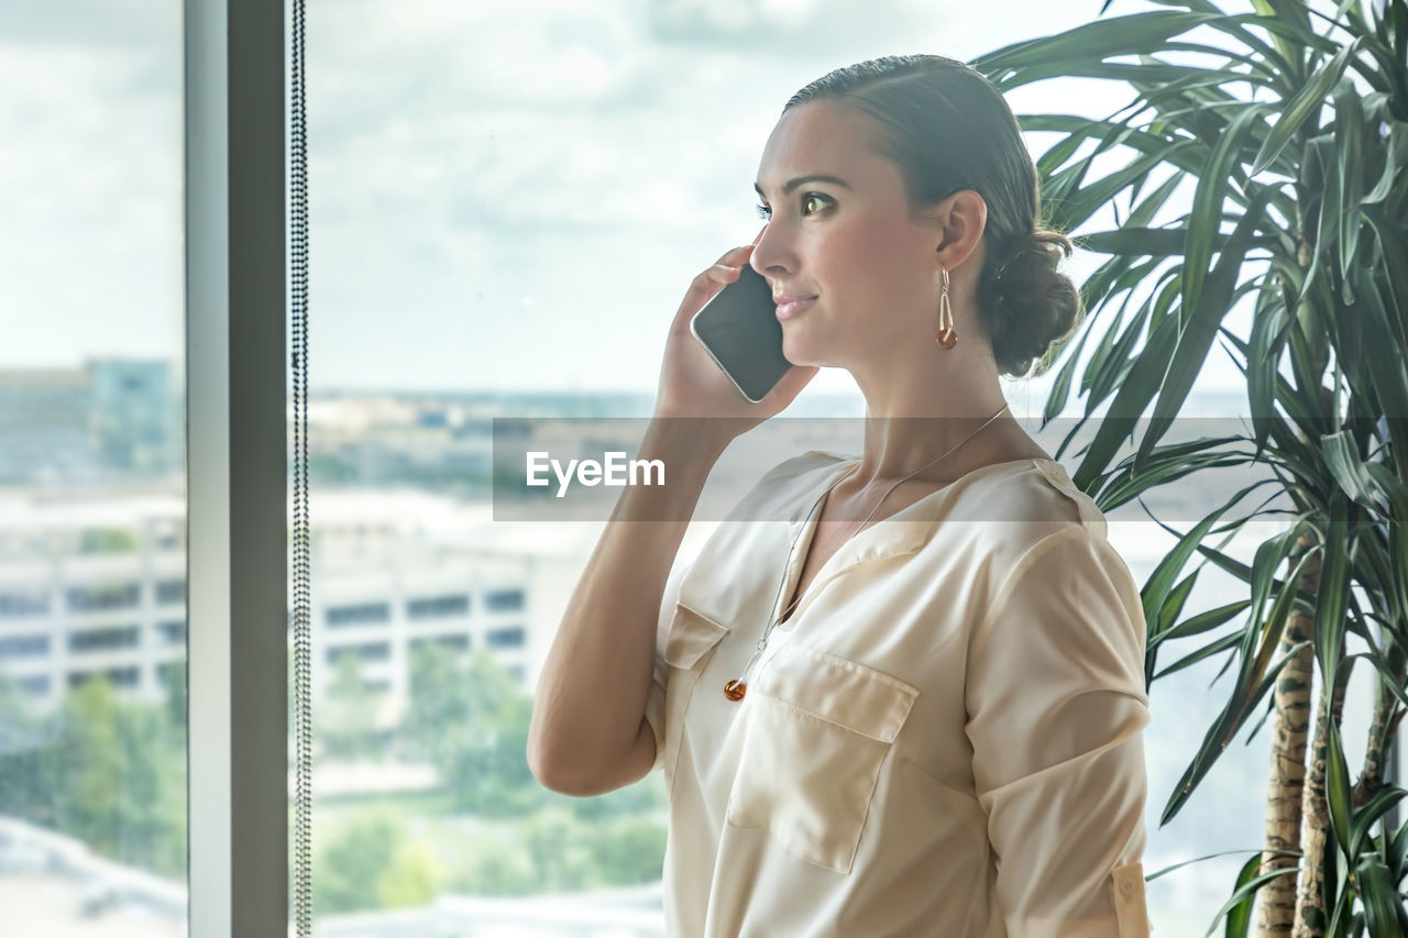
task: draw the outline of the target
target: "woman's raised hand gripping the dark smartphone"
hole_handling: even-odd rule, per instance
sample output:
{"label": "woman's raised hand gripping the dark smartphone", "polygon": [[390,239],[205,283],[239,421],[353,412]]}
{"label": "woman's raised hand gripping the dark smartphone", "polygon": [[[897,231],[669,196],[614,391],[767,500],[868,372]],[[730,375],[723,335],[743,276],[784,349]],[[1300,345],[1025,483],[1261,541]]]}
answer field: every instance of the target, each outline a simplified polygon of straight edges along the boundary
{"label": "woman's raised hand gripping the dark smartphone", "polygon": [[[762,232],[758,237],[760,238]],[[753,244],[758,244],[758,238]],[[752,244],[727,251],[718,263],[690,283],[684,301],[680,303],[670,324],[665,345],[655,417],[717,417],[721,432],[729,438],[738,437],[783,411],[821,370],[815,365],[794,365],[763,400],[753,404],[738,392],[728,375],[690,332],[690,320],[694,314],[727,284],[738,280],[752,251]]]}

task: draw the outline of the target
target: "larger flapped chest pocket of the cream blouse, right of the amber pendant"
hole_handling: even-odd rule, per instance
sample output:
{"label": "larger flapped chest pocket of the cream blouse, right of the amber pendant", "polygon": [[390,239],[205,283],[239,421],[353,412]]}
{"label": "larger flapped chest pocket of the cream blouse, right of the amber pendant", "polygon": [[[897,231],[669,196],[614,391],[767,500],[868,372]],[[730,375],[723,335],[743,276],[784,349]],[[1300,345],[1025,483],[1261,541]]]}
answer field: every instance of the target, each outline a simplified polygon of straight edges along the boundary
{"label": "larger flapped chest pocket of the cream blouse, right of the amber pendant", "polygon": [[784,646],[748,689],[725,817],[849,873],[881,763],[918,687],[845,658]]}

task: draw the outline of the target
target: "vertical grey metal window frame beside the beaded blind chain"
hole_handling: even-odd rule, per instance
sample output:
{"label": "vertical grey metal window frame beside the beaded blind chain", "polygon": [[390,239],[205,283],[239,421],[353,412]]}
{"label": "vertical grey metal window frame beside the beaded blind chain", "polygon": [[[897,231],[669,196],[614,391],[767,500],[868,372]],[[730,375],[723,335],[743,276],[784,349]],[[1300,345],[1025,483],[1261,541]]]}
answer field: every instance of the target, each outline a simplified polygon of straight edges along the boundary
{"label": "vertical grey metal window frame beside the beaded blind chain", "polygon": [[182,0],[189,930],[289,934],[283,0]]}

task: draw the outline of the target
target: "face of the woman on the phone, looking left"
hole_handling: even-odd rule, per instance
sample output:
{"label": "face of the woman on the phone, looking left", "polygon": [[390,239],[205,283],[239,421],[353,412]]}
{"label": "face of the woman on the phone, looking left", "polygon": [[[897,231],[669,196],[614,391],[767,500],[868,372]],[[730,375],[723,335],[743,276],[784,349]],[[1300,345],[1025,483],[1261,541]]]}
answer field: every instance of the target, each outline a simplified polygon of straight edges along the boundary
{"label": "face of the woman on the phone, looking left", "polygon": [[[767,227],[750,265],[773,296],[817,297],[781,321],[794,365],[884,361],[938,331],[942,231],[911,220],[900,170],[866,144],[879,124],[835,101],[777,121],[758,169]],[[808,179],[788,187],[790,183]]]}

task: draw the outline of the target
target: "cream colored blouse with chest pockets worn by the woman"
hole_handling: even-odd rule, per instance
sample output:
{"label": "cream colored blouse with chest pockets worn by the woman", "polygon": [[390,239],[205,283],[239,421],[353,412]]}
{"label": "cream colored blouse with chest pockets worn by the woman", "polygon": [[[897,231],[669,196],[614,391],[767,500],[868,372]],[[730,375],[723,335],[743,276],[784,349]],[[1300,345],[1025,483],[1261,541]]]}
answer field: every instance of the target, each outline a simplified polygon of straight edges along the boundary
{"label": "cream colored blouse with chest pockets worn by the woman", "polygon": [[670,573],[646,708],[667,934],[1149,935],[1143,610],[1059,463],[852,537],[724,696],[850,462],[773,468]]}

